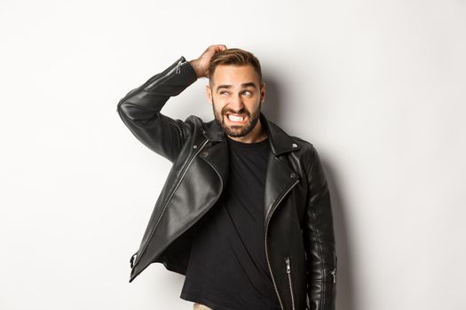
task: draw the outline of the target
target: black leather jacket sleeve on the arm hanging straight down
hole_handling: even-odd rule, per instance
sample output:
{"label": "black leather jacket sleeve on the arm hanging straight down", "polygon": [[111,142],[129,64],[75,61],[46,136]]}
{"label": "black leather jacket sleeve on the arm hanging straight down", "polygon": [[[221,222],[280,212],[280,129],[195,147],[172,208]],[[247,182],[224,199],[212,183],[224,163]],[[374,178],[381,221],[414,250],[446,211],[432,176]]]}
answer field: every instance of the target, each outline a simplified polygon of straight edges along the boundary
{"label": "black leather jacket sleeve on the arm hanging straight down", "polygon": [[327,179],[313,145],[307,173],[309,188],[303,233],[310,306],[306,310],[335,310],[336,250],[332,210]]}

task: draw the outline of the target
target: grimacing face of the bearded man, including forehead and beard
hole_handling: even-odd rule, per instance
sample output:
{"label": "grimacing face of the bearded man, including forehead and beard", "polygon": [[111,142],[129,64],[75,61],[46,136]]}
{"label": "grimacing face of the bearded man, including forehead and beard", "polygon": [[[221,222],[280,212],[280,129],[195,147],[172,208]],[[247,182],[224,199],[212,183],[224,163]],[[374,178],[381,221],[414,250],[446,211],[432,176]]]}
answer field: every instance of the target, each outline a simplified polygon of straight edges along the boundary
{"label": "grimacing face of the bearded man, including forehead and beard", "polygon": [[265,98],[265,84],[251,65],[216,67],[206,87],[215,120],[225,134],[247,137],[254,133]]}

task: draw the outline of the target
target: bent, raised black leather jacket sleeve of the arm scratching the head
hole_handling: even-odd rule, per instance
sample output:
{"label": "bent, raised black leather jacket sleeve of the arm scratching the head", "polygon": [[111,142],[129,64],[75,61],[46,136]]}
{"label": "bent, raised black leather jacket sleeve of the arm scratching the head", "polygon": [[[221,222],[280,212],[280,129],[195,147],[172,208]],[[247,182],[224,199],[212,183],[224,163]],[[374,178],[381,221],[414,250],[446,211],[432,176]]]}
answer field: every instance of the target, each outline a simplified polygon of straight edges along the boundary
{"label": "bent, raised black leather jacket sleeve of the arm scratching the head", "polygon": [[193,67],[182,56],[122,97],[116,111],[141,143],[173,162],[186,137],[191,135],[192,126],[160,111],[170,97],[177,96],[196,80]]}

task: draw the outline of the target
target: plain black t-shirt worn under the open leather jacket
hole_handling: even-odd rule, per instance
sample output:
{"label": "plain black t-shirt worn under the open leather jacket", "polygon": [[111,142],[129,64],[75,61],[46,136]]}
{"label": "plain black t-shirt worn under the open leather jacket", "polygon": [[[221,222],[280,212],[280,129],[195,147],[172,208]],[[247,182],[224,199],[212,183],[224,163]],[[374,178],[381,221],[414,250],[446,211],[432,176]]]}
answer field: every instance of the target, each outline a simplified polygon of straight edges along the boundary
{"label": "plain black t-shirt worn under the open leather jacket", "polygon": [[228,180],[216,205],[195,225],[180,298],[214,310],[280,309],[265,258],[265,174],[269,139],[227,137]]}

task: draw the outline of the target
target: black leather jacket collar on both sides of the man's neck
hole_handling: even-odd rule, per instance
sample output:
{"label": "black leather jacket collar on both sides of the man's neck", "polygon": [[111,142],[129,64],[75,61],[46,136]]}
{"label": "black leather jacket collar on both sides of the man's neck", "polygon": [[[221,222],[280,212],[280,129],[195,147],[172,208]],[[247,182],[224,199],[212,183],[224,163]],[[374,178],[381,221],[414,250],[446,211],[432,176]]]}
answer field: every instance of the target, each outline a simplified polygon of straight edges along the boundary
{"label": "black leather jacket collar on both sides of the man's neck", "polygon": [[[271,120],[267,120],[263,112],[260,112],[261,124],[264,126],[269,136],[269,142],[274,156],[280,155],[288,151],[299,150],[299,144],[296,143],[288,134],[280,127],[275,125]],[[226,136],[224,130],[218,126],[217,121],[210,120],[207,123],[202,123],[202,133],[210,141],[225,141]]]}

